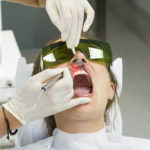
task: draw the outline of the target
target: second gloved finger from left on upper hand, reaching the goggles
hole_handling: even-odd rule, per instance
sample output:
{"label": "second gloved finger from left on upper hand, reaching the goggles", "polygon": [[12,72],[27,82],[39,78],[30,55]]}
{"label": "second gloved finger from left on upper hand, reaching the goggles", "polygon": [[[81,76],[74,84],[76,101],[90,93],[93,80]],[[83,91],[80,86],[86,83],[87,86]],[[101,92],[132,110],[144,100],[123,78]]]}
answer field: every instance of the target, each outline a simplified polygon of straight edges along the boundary
{"label": "second gloved finger from left on upper hand, reaching the goggles", "polygon": [[71,8],[71,14],[72,14],[71,32],[66,41],[68,48],[74,47],[74,42],[75,42],[76,33],[77,33],[78,14],[77,14],[76,8],[74,8],[73,6]]}

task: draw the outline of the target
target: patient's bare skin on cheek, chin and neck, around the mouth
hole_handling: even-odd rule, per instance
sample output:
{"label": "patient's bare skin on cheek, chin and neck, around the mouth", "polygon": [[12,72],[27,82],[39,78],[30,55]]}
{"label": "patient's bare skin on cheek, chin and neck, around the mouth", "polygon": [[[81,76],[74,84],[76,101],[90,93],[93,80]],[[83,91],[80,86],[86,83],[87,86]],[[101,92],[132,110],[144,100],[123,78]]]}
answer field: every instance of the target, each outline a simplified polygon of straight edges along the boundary
{"label": "patient's bare skin on cheek, chin and neck, around the mouth", "polygon": [[[80,60],[84,59],[85,67],[92,78],[93,93],[87,96],[91,98],[91,102],[56,114],[56,126],[68,133],[96,132],[104,128],[104,112],[108,99],[113,99],[114,84],[110,81],[108,71],[103,64],[88,61],[80,51],[77,51],[76,56]],[[74,59],[57,67],[68,67],[72,70]]]}

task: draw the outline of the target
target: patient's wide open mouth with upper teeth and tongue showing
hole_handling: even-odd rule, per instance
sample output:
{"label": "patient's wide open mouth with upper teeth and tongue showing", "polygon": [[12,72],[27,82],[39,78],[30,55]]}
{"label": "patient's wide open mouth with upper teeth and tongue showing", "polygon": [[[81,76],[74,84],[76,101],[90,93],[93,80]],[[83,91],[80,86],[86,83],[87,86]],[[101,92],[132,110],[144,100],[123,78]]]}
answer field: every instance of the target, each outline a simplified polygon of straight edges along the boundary
{"label": "patient's wide open mouth with upper teeth and tongue showing", "polygon": [[93,91],[91,78],[85,70],[73,74],[74,97],[89,97]]}

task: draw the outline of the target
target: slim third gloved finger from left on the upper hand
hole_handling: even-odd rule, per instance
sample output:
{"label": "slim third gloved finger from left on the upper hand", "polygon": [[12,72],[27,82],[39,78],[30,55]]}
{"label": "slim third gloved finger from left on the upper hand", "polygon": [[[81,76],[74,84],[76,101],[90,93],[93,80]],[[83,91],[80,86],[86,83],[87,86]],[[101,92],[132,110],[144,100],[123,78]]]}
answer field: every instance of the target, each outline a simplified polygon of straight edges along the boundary
{"label": "slim third gloved finger from left on the upper hand", "polygon": [[83,20],[84,20],[84,10],[83,8],[78,8],[78,28],[77,28],[77,34],[76,34],[74,47],[77,47],[79,44],[80,36],[82,32]]}

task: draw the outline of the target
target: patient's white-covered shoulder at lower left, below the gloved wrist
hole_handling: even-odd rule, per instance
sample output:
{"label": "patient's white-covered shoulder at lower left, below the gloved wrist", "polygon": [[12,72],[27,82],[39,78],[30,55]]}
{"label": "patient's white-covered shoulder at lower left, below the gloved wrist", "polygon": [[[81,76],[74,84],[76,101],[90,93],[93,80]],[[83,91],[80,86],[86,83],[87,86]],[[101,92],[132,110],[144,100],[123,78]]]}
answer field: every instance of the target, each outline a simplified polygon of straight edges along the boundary
{"label": "patient's white-covered shoulder at lower left, below the gloved wrist", "polygon": [[47,150],[50,149],[53,141],[53,136],[48,137],[44,140],[38,141],[36,143],[21,147],[19,150]]}

